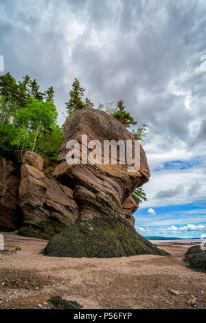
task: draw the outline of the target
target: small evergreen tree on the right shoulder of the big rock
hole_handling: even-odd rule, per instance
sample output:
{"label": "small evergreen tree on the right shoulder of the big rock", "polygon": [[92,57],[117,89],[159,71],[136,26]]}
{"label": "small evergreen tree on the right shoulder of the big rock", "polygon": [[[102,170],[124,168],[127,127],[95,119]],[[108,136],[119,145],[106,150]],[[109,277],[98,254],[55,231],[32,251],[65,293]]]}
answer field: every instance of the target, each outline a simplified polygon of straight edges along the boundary
{"label": "small evergreen tree on the right shoulder of the big rock", "polygon": [[137,124],[137,122],[130,115],[130,113],[126,111],[123,100],[117,101],[117,108],[113,109],[113,113],[111,113],[111,116],[119,122],[121,122],[122,124],[124,124],[126,128],[130,127],[131,125]]}

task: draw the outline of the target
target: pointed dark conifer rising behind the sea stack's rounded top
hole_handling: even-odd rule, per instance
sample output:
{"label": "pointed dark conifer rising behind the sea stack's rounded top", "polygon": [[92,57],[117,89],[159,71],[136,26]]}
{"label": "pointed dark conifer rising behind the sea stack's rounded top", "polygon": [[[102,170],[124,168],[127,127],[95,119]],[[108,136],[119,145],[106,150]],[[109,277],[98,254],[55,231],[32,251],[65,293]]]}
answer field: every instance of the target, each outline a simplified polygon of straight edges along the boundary
{"label": "pointed dark conifer rising behind the sea stack's rounded top", "polygon": [[69,114],[85,107],[85,103],[82,101],[85,89],[80,87],[80,81],[77,78],[74,79],[71,87],[69,102],[65,102]]}

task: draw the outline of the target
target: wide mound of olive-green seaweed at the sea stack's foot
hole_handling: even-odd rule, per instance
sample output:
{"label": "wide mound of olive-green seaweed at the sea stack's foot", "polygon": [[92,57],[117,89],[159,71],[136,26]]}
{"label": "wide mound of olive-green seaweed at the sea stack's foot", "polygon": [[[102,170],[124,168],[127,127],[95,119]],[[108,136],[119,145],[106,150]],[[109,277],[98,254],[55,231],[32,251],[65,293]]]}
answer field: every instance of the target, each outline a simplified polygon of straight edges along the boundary
{"label": "wide mound of olive-green seaweed at the sea stack's foot", "polygon": [[45,256],[75,258],[168,255],[140,236],[127,221],[102,218],[67,227],[47,243],[43,253]]}

